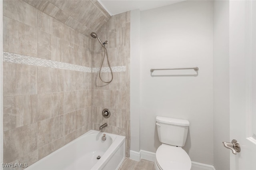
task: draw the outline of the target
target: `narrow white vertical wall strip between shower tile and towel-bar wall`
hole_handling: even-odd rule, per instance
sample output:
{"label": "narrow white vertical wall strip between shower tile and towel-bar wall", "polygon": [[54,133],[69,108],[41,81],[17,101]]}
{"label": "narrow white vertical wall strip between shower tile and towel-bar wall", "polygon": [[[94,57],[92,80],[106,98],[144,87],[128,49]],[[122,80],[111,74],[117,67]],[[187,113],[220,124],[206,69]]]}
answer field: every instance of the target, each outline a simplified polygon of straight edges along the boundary
{"label": "narrow white vertical wall strip between shower tile and towel-bar wall", "polygon": [[140,10],[131,11],[130,150],[140,151]]}

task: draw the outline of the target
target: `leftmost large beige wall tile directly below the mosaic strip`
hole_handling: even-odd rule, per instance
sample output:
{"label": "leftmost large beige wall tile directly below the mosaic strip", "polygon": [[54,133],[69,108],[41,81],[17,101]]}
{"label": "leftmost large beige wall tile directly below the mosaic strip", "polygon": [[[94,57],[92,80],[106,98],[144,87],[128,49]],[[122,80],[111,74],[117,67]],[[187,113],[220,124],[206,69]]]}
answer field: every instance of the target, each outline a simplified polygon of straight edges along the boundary
{"label": "leftmost large beige wall tile directly below the mosaic strip", "polygon": [[4,96],[37,93],[37,68],[32,65],[3,63]]}

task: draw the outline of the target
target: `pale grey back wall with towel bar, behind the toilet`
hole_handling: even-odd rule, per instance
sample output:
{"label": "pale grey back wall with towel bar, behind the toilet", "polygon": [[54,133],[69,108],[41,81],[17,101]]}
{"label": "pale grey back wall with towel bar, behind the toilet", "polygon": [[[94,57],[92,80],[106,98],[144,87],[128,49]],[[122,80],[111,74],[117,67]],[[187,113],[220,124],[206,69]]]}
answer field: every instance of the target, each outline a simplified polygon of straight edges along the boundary
{"label": "pale grey back wall with towel bar, behind the toilet", "polygon": [[[140,13],[140,148],[156,152],[156,116],[187,119],[184,149],[213,164],[213,2],[184,1]],[[151,68],[199,67],[154,71]],[[156,76],[158,75],[158,76]]]}

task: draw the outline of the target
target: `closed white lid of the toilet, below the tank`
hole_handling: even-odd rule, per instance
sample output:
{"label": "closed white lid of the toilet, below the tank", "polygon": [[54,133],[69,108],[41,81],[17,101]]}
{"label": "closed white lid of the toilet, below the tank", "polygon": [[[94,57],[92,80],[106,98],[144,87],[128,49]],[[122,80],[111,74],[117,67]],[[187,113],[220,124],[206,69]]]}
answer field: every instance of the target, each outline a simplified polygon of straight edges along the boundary
{"label": "closed white lid of the toilet, below the tank", "polygon": [[156,160],[163,170],[191,169],[191,160],[181,147],[162,144],[156,150]]}

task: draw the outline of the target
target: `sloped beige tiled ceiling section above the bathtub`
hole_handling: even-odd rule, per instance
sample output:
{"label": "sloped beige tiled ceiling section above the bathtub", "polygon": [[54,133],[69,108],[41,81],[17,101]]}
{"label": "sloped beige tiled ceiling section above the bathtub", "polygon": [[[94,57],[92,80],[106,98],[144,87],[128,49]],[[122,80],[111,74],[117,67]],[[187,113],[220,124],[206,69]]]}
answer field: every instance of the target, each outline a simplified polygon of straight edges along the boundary
{"label": "sloped beige tiled ceiling section above the bathtub", "polygon": [[[24,0],[52,18],[65,23],[85,36],[98,32],[111,16],[97,1],[89,0]],[[38,18],[40,27],[42,20]]]}

